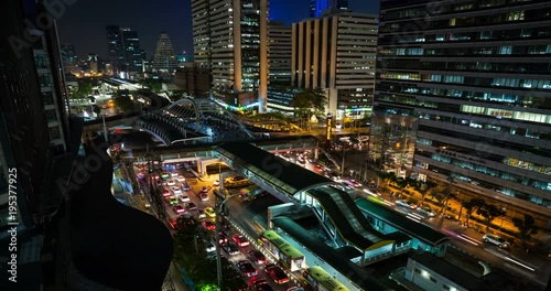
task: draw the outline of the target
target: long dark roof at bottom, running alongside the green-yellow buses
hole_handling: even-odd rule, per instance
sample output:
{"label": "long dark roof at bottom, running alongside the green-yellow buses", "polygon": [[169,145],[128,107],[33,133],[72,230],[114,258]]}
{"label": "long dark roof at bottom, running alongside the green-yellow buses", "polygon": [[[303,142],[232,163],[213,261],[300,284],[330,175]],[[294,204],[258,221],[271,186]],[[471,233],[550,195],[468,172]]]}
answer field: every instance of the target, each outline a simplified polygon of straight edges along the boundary
{"label": "long dark roof at bottom, running alongside the green-yellow buses", "polygon": [[354,284],[363,290],[387,291],[391,290],[379,280],[367,273],[360,267],[342,256],[338,250],[320,242],[306,229],[298,225],[294,220],[285,216],[272,218],[272,223],[285,231],[289,236],[299,241],[306,249],[315,254],[327,265],[348,278]]}

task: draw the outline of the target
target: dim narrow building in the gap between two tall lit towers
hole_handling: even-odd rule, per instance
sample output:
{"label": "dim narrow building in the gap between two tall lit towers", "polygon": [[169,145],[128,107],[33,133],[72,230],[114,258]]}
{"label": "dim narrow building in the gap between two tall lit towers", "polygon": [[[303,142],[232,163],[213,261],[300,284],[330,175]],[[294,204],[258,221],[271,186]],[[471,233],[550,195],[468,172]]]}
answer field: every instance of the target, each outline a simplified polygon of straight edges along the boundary
{"label": "dim narrow building in the gap between two tall lit towers", "polygon": [[291,85],[292,29],[283,21],[268,22],[268,67],[270,85]]}

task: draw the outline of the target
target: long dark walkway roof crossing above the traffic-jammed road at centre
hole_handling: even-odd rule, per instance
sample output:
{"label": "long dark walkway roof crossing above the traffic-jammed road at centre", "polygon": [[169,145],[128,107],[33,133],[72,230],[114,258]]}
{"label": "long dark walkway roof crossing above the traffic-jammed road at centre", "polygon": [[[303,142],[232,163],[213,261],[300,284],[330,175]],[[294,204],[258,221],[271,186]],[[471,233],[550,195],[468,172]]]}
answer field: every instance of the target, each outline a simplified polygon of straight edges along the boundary
{"label": "long dark walkway roof crossing above the traffic-jammed road at centre", "polygon": [[247,142],[225,143],[214,149],[289,197],[314,185],[334,183],[325,176],[290,163]]}

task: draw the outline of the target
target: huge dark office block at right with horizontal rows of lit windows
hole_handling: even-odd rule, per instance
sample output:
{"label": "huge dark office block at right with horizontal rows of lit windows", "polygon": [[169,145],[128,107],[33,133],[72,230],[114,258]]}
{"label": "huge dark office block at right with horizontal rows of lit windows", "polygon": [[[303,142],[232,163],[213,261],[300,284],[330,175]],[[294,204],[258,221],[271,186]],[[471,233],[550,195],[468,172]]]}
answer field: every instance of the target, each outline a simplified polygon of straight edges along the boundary
{"label": "huge dark office block at right with horizontal rows of lit windows", "polygon": [[372,160],[549,226],[551,2],[381,1],[380,20]]}

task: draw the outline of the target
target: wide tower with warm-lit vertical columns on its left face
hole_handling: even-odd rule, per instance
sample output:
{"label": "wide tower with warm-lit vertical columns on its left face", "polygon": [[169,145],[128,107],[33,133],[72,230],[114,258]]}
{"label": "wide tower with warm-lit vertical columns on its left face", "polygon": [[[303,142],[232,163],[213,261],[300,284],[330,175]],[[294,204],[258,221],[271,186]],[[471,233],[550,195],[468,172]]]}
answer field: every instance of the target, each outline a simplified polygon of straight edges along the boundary
{"label": "wide tower with warm-lit vertical columns on its left face", "polygon": [[292,84],[323,89],[336,120],[359,119],[371,112],[377,17],[335,11],[293,23]]}

